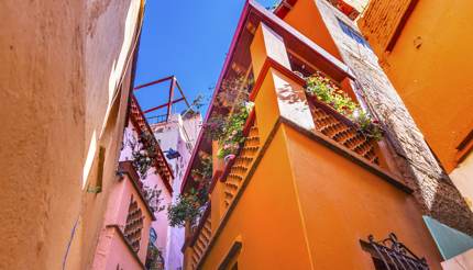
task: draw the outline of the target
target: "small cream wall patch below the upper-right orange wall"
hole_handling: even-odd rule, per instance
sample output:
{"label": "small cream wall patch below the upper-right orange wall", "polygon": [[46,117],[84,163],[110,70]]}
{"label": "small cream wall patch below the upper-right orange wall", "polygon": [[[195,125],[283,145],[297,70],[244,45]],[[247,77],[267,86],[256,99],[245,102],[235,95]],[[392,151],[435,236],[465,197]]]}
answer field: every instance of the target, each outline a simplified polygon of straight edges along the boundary
{"label": "small cream wall patch below the upper-right orange wall", "polygon": [[450,173],[450,179],[473,211],[473,151]]}

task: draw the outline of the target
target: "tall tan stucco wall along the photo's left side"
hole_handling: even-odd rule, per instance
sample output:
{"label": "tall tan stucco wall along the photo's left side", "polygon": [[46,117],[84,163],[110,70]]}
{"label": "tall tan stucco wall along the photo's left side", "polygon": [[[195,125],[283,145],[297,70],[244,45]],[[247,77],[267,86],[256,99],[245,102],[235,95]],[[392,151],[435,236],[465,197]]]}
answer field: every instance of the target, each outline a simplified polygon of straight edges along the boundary
{"label": "tall tan stucco wall along the photo's left side", "polygon": [[[0,269],[90,265],[121,145],[140,5],[0,2]],[[99,146],[103,191],[86,193]]]}

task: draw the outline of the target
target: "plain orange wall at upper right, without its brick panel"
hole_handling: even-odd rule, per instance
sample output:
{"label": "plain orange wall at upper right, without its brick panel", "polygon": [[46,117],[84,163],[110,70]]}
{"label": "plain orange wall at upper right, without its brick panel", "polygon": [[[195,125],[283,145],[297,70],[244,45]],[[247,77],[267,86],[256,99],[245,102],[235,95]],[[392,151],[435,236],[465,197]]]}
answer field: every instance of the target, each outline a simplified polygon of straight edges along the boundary
{"label": "plain orange wall at upper right, without its brick panel", "polygon": [[[386,5],[392,1],[376,2]],[[457,145],[473,128],[472,10],[472,1],[419,1],[393,52],[378,54],[448,172],[455,168]],[[363,24],[361,19],[363,34],[376,43]]]}

